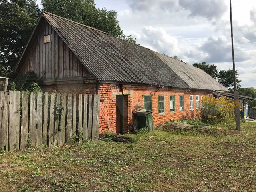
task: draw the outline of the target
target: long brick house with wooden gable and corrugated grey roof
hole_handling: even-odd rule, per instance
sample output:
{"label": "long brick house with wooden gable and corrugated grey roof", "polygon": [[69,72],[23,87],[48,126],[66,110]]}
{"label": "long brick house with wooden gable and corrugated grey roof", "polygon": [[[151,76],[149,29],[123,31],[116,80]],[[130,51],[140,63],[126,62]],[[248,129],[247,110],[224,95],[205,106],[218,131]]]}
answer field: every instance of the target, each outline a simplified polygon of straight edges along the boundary
{"label": "long brick house with wooden gable and corrugated grey roof", "polygon": [[100,94],[100,132],[129,131],[142,108],[154,126],[191,118],[202,96],[228,91],[199,68],[48,12],[15,70],[43,77],[45,92]]}

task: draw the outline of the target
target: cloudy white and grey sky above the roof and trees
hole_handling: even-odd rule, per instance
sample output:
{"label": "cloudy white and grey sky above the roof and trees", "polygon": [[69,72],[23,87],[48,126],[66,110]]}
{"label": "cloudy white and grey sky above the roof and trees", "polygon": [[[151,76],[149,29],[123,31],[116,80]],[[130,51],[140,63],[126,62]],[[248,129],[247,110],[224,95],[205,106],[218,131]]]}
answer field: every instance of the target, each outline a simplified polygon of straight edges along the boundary
{"label": "cloudy white and grey sky above the roof and trees", "polygon": [[[40,0],[37,1],[40,4]],[[95,0],[116,10],[125,35],[188,64],[232,68],[229,0]],[[234,54],[242,87],[256,88],[256,0],[232,0]]]}

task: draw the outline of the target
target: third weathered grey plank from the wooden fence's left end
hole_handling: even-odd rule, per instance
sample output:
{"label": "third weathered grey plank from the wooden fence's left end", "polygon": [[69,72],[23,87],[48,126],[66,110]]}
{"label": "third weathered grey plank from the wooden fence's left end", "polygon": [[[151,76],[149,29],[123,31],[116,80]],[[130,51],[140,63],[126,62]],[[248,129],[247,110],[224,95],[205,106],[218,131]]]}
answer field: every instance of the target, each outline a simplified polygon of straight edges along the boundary
{"label": "third weathered grey plank from the wooden fence's left end", "polygon": [[28,140],[28,92],[22,93],[22,118],[20,128],[20,148],[23,149],[27,145]]}

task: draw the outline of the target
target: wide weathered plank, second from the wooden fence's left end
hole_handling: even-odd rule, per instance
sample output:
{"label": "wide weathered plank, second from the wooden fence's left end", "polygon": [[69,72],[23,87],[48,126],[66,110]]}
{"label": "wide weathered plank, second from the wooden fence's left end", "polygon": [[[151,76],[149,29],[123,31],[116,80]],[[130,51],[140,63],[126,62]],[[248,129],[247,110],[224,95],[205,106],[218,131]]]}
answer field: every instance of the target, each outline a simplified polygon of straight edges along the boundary
{"label": "wide weathered plank, second from the wooden fence's left end", "polygon": [[17,134],[19,135],[19,125],[17,125],[17,118],[20,118],[20,117],[17,112],[16,91],[10,91],[9,94],[10,94],[9,148],[10,148],[10,151],[12,151],[12,150],[19,149],[19,141],[17,141]]}

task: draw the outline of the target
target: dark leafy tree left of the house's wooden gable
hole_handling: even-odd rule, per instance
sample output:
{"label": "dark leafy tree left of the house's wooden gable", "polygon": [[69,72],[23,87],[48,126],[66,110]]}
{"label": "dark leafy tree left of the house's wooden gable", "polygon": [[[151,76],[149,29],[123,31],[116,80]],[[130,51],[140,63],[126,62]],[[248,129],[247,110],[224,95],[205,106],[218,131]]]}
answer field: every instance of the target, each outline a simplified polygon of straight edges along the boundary
{"label": "dark leafy tree left of the house's wooden gable", "polygon": [[12,72],[39,14],[35,0],[0,1],[0,76]]}

